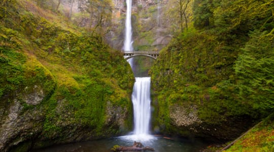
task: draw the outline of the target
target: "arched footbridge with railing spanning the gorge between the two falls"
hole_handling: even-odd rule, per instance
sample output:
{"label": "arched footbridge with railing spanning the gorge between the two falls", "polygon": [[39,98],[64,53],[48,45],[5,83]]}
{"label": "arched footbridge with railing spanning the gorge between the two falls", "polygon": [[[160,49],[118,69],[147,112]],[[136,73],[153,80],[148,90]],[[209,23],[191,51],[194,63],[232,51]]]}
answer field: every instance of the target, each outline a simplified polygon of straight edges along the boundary
{"label": "arched footbridge with railing spanning the gorge between the two falls", "polygon": [[130,59],[135,56],[147,56],[153,59],[157,59],[159,51],[123,51],[125,59]]}

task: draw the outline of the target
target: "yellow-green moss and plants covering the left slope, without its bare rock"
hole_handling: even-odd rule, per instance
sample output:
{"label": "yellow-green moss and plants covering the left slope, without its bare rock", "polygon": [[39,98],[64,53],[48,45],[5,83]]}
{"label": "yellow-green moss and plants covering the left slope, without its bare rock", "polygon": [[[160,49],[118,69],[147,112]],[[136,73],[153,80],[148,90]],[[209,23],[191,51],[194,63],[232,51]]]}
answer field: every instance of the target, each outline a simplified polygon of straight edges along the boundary
{"label": "yellow-green moss and plants covering the left slope, without its bare rock", "polygon": [[[43,138],[61,141],[83,128],[88,138],[98,138],[121,132],[120,124],[108,122],[115,119],[108,108],[117,107],[130,117],[122,127],[130,128],[134,77],[123,54],[102,43],[100,35],[64,29],[28,12],[24,3],[1,2],[1,9],[9,10],[0,16],[1,117],[19,101],[22,112],[41,109]],[[26,102],[29,94],[41,92],[41,103]]]}

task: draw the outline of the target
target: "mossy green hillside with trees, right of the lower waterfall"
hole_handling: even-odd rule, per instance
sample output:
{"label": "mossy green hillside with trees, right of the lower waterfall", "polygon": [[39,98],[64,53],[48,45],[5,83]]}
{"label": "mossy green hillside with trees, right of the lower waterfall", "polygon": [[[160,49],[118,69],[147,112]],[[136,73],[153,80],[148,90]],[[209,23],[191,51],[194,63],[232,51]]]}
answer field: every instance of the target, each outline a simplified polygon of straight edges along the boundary
{"label": "mossy green hillside with trees, right of the lower waterfall", "polygon": [[151,70],[155,130],[227,141],[273,112],[273,4],[193,2]]}

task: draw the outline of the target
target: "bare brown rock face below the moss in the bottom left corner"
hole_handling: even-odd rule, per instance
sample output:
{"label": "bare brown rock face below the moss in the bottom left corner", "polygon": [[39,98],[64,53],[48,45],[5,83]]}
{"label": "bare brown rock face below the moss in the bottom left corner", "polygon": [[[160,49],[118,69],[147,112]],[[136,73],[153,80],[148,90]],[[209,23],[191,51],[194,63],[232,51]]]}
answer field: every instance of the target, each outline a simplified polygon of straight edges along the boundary
{"label": "bare brown rock face below the moss in the bottom left corner", "polygon": [[10,147],[37,135],[43,128],[45,117],[39,115],[41,112],[40,108],[24,111],[23,105],[15,99],[8,116],[1,120],[0,151],[8,151]]}

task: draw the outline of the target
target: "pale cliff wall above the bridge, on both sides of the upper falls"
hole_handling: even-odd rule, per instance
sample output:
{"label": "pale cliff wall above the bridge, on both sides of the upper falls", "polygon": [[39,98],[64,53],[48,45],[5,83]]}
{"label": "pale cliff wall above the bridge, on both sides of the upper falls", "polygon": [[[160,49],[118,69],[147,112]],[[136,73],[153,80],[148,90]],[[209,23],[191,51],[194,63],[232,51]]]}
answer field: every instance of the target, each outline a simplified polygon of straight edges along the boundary
{"label": "pale cliff wall above the bridge, on both sides of the upper falls", "polygon": [[[126,3],[114,0],[113,28],[107,35],[108,43],[117,50],[122,50],[124,40],[124,22]],[[133,29],[134,50],[161,50],[172,38],[172,23],[168,22],[170,1],[132,1],[131,24]]]}

